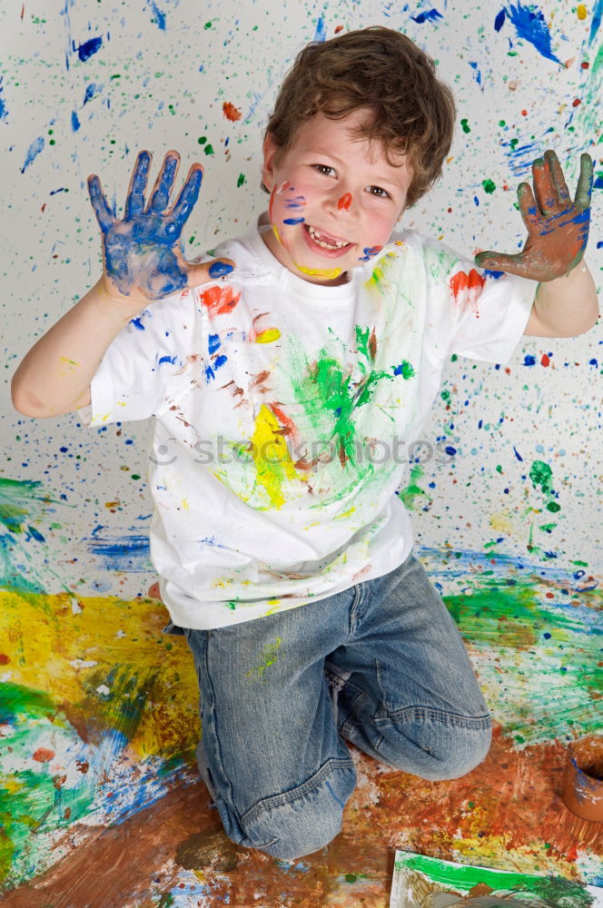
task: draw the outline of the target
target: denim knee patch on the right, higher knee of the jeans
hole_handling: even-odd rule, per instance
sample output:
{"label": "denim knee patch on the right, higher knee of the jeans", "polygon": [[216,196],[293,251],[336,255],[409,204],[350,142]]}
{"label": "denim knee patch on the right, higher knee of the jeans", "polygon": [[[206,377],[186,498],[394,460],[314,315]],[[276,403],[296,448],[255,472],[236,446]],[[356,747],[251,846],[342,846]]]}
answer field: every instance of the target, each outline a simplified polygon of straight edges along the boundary
{"label": "denim knee patch on the right, higher knee of the jeans", "polygon": [[430,782],[460,778],[488,755],[492,723],[485,716],[454,716],[434,709],[400,710],[379,725],[375,749],[394,769]]}

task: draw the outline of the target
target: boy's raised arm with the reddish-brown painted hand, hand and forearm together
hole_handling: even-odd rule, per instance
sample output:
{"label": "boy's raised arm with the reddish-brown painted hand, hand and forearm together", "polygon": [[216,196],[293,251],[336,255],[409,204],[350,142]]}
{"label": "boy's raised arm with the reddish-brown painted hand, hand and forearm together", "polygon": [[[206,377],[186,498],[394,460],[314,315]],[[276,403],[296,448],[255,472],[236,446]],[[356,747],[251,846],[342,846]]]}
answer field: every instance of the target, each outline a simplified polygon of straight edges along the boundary
{"label": "boy's raised arm with the reddish-brown painted hand, hand and forearm together", "polygon": [[554,152],[538,158],[532,173],[534,193],[529,183],[521,183],[518,189],[519,209],[528,229],[523,250],[516,255],[480,252],[475,261],[482,268],[539,281],[525,334],[575,337],[598,319],[595,282],[582,261],[590,224],[592,160],[588,154],[580,158],[573,202]]}

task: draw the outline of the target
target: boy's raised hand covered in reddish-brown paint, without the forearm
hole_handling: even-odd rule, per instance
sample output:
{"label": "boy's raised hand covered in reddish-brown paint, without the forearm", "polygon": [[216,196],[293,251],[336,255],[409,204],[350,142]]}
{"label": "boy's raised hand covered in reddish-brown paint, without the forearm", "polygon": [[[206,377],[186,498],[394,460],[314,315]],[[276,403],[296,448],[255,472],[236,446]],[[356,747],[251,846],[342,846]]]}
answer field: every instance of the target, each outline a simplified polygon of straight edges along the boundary
{"label": "boy's raised hand covered in reddish-brown paint, without the forearm", "polygon": [[555,152],[537,158],[532,176],[534,193],[529,183],[520,183],[517,191],[528,229],[525,246],[515,255],[479,252],[475,263],[479,268],[509,271],[532,281],[553,281],[575,268],[587,247],[593,163],[590,155],[581,155],[573,202]]}

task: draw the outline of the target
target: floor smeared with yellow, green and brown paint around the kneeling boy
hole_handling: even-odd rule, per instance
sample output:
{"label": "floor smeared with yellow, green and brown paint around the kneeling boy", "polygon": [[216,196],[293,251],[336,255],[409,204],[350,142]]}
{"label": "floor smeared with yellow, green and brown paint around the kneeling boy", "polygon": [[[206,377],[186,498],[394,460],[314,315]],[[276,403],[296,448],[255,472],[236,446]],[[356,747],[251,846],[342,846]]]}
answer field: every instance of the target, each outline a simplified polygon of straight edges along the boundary
{"label": "floor smeared with yellow, green and brown paint around the kneeling boy", "polygon": [[220,822],[193,768],[192,661],[161,634],[163,608],[3,592],[4,908],[385,908],[396,847],[602,884],[601,824],[559,796],[568,740],[601,726],[596,578],[478,553],[420,557],[497,720],[488,759],[433,784],[354,751],[359,785],[328,848],[296,862],[236,849],[219,854],[236,861],[228,871],[186,869],[192,837]]}

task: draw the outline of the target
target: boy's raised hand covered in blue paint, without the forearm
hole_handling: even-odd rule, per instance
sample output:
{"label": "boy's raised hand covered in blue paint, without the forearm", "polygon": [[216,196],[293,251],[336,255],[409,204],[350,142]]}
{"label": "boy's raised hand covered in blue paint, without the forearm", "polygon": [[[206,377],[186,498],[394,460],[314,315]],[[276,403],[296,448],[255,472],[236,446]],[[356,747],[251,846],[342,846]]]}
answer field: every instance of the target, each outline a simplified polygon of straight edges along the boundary
{"label": "boy's raised hand covered in blue paint, without the forearm", "polygon": [[233,263],[214,260],[202,265],[186,262],[180,235],[193,211],[203,179],[201,164],[193,164],[173,205],[173,183],[180,155],[168,152],[145,207],[144,193],[151,167],[151,154],[140,152],[134,164],[125,200],[124,219],[111,211],[96,175],[88,177],[88,192],[103,232],[104,289],[128,302],[161,300],[185,287],[214,280],[232,271]]}

